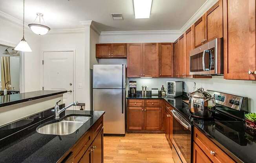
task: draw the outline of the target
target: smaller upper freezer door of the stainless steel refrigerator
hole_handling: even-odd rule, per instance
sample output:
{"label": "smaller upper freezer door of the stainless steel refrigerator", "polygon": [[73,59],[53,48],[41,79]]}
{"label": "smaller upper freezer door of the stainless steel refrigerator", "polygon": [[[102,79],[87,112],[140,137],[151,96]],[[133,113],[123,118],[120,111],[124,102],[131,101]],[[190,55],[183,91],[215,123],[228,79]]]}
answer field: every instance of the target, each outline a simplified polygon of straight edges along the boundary
{"label": "smaller upper freezer door of the stainless steel refrigerator", "polygon": [[93,88],[125,88],[125,65],[93,65]]}

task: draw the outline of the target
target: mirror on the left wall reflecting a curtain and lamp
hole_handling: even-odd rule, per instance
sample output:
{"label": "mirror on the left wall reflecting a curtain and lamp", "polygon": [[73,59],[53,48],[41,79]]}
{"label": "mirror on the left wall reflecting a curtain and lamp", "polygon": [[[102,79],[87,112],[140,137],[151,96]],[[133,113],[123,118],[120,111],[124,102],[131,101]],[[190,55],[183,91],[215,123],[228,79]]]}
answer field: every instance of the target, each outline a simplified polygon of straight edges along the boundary
{"label": "mirror on the left wall reflecting a curtain and lamp", "polygon": [[0,95],[20,92],[20,51],[0,45]]}

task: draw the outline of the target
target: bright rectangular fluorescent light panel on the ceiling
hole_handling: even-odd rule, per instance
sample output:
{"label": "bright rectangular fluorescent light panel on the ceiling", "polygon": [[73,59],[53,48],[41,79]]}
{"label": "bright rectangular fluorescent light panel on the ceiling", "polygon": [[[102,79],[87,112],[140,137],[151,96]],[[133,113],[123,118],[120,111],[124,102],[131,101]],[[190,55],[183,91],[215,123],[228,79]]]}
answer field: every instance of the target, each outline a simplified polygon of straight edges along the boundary
{"label": "bright rectangular fluorescent light panel on the ceiling", "polygon": [[152,0],[133,0],[135,19],[150,18]]}

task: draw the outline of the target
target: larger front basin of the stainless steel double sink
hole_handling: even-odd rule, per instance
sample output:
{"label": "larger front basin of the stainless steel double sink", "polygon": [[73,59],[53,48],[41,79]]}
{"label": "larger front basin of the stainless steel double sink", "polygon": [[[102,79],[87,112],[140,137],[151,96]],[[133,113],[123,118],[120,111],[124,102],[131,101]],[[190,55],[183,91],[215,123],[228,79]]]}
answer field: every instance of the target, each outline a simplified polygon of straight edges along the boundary
{"label": "larger front basin of the stainless steel double sink", "polygon": [[40,134],[68,135],[75,132],[83,124],[84,122],[62,120],[40,127],[37,132]]}

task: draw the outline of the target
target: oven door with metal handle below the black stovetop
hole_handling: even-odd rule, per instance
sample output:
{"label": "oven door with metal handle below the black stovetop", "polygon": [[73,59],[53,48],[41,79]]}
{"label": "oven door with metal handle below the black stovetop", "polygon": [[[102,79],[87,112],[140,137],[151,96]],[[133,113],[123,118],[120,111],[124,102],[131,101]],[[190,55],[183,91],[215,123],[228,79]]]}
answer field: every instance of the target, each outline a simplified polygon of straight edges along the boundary
{"label": "oven door with metal handle below the black stovetop", "polygon": [[[192,132],[191,125],[176,110],[172,110],[173,114],[173,138],[172,153],[175,163],[191,163],[192,162]],[[179,157],[177,157],[179,156]]]}

